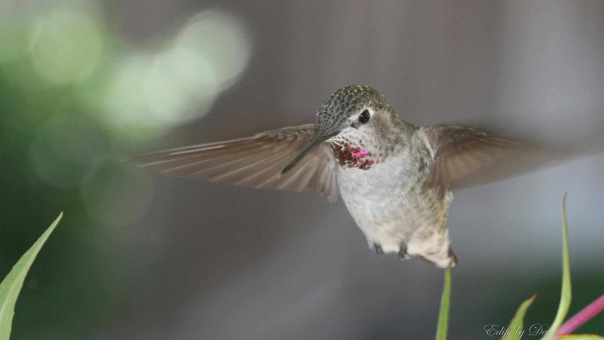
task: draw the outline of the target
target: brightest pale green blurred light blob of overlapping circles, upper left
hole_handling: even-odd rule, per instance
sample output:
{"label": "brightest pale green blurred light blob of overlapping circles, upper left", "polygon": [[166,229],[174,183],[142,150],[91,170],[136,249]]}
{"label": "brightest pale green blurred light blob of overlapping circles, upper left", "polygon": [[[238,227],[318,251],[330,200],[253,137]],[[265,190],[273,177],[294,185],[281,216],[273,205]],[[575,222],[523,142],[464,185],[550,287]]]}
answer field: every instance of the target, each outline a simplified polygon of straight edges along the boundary
{"label": "brightest pale green blurred light blob of overlapping circles, upper left", "polygon": [[99,111],[123,142],[155,138],[207,113],[250,56],[242,24],[216,11],[194,16],[169,46],[129,53],[113,67]]}

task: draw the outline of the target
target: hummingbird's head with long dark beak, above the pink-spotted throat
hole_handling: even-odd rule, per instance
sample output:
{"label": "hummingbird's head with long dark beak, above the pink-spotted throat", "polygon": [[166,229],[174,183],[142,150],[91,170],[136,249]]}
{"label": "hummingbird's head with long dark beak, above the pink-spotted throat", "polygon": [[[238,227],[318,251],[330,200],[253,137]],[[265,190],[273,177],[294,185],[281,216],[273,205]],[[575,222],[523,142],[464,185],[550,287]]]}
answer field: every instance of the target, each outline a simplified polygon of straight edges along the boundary
{"label": "hummingbird's head with long dark beak, above the pink-spotted throat", "polygon": [[378,132],[394,119],[394,111],[381,93],[362,85],[348,85],[329,96],[316,112],[319,134],[281,170],[284,174],[326,140],[349,128]]}

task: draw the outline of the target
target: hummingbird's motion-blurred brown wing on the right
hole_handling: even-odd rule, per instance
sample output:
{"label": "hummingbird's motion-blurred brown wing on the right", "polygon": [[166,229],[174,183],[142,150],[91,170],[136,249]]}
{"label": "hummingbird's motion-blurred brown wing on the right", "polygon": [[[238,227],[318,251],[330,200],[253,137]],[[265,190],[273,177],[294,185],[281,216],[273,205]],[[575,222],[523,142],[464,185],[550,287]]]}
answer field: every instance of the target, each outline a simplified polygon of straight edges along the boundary
{"label": "hummingbird's motion-blurred brown wing on the right", "polygon": [[432,126],[424,132],[434,153],[424,189],[445,185],[457,189],[503,180],[536,170],[563,156],[459,126]]}

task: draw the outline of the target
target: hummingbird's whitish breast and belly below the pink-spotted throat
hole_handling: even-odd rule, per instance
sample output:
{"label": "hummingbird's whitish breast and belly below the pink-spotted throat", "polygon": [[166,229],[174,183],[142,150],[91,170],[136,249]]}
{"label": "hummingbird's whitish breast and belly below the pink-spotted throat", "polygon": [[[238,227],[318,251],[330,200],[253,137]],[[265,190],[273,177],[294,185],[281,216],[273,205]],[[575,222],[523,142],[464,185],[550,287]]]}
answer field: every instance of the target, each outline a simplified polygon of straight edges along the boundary
{"label": "hummingbird's whitish breast and belly below the pink-spotted throat", "polygon": [[[399,252],[401,244],[406,244],[410,255],[425,255],[431,251],[426,247],[440,248],[443,241],[448,248],[444,227],[452,195],[442,201],[435,200],[431,191],[422,191],[418,157],[406,149],[388,155],[370,169],[338,168],[342,200],[370,247],[377,244],[384,252]],[[439,229],[444,229],[445,240],[441,240],[442,233],[435,234]],[[435,237],[438,240],[430,241]],[[437,246],[434,241],[441,244]]]}

